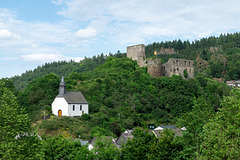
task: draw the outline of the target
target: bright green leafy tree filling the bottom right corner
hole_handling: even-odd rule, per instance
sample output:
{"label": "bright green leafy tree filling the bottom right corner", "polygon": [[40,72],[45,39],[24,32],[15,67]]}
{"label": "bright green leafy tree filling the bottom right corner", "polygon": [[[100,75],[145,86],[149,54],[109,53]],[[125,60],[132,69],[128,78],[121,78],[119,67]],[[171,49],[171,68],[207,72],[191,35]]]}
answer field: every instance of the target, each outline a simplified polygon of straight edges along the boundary
{"label": "bright green leafy tree filling the bottom right corner", "polygon": [[222,106],[204,125],[200,151],[203,159],[239,159],[240,91],[225,97]]}

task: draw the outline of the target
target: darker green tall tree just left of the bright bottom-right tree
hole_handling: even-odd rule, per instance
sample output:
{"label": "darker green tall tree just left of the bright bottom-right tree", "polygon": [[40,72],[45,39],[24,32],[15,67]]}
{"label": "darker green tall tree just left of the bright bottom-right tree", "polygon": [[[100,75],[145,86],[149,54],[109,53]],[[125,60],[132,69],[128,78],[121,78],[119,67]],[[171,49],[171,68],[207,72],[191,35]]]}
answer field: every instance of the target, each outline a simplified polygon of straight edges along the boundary
{"label": "darker green tall tree just left of the bright bottom-right tree", "polygon": [[[205,97],[201,96],[194,100],[192,111],[185,113],[179,120],[180,127],[185,126],[186,131],[183,133],[184,150],[182,156],[195,157],[200,150],[200,144],[203,132],[203,126],[208,122],[209,118],[214,114],[214,105]],[[196,158],[196,157],[195,157]]]}

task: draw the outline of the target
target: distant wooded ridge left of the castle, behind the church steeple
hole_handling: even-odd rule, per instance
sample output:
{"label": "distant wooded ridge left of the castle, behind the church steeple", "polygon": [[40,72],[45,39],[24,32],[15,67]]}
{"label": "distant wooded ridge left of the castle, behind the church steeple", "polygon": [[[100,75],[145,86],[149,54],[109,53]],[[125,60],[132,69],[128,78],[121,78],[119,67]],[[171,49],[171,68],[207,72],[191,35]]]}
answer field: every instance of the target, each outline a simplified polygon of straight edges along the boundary
{"label": "distant wooded ridge left of the castle, behind the church steeple", "polygon": [[11,79],[17,89],[23,90],[29,82],[40,78],[46,74],[54,73],[61,77],[69,76],[71,73],[82,73],[95,69],[97,66],[105,63],[107,57],[126,57],[126,54],[118,51],[116,54],[93,56],[92,58],[85,57],[81,62],[74,61],[58,61],[52,63],[46,63],[42,66],[38,66],[34,70],[29,70],[23,73],[21,76],[14,76]]}

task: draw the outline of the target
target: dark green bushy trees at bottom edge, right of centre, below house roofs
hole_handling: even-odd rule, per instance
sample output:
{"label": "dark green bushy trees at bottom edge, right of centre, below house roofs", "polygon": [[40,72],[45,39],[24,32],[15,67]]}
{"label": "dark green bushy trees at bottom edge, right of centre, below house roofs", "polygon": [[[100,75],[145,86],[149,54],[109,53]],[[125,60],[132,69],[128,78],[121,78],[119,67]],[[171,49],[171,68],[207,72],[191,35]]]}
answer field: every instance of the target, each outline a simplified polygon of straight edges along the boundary
{"label": "dark green bushy trees at bottom edge, right of centre, below house roofs", "polygon": [[122,148],[122,159],[178,159],[183,149],[182,143],[168,129],[159,138],[141,128],[136,128],[133,135]]}

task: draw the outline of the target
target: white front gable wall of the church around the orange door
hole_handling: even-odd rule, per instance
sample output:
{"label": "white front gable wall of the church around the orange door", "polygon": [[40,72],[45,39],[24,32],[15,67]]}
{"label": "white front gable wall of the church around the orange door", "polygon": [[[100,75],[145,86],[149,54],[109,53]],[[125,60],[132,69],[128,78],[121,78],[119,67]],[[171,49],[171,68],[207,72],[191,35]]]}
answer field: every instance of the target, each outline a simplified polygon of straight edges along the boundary
{"label": "white front gable wall of the church around the orange door", "polygon": [[62,110],[62,116],[68,115],[68,103],[63,97],[56,97],[52,103],[52,113],[58,116],[58,110]]}

